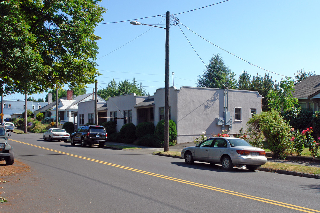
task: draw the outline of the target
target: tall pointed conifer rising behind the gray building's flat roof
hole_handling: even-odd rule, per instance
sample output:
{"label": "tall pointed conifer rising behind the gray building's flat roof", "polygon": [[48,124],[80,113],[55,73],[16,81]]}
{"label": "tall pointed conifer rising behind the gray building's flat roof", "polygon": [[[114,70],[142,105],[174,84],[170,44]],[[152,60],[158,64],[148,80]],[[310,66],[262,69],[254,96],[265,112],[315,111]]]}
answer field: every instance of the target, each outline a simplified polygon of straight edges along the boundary
{"label": "tall pointed conifer rising behind the gray building's flat roof", "polygon": [[236,89],[235,73],[224,65],[220,54],[214,55],[205,67],[202,76],[197,80],[198,87],[224,88],[228,82],[230,89]]}

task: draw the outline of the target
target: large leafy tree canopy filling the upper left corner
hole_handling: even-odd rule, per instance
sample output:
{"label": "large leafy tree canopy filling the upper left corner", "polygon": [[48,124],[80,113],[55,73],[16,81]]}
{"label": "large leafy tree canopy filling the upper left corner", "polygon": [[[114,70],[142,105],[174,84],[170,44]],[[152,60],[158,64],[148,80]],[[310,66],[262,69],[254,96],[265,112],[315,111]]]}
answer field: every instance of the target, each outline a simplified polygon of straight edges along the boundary
{"label": "large leafy tree canopy filling the upper left corner", "polygon": [[101,0],[0,0],[0,93],[84,87],[95,68]]}

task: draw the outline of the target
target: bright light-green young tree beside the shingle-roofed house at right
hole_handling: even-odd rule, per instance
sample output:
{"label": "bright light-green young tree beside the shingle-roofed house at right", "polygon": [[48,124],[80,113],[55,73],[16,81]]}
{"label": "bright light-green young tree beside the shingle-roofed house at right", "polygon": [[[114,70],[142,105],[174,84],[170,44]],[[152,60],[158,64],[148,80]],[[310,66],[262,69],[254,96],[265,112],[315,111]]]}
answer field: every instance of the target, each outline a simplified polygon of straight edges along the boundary
{"label": "bright light-green young tree beside the shingle-roofed house at right", "polygon": [[288,77],[280,81],[279,90],[269,90],[267,97],[272,109],[277,111],[289,110],[298,104],[298,99],[293,97],[294,82]]}

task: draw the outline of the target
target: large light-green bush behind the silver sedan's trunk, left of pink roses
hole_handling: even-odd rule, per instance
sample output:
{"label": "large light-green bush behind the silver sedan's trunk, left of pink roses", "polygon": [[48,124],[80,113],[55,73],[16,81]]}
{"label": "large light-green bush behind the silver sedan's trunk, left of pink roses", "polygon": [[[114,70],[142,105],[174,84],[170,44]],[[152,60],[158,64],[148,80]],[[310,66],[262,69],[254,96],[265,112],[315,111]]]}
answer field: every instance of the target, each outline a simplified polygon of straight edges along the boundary
{"label": "large light-green bush behind the silver sedan's trunk, left of pink roses", "polygon": [[285,158],[285,150],[290,146],[289,131],[291,126],[276,110],[264,111],[250,118],[247,125],[253,133],[262,132],[269,144],[269,149],[282,159]]}

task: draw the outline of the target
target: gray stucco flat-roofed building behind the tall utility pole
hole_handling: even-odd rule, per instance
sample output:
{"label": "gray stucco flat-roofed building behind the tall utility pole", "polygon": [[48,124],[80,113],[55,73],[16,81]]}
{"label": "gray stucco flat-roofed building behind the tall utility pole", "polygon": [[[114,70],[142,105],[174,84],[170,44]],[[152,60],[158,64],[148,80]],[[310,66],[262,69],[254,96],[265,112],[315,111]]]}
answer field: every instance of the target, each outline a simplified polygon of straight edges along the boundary
{"label": "gray stucco flat-roofed building behind the tall utility pole", "polygon": [[[178,143],[194,141],[204,131],[228,134],[246,129],[247,121],[260,113],[262,96],[257,91],[217,89],[204,87],[170,87],[170,119],[177,125]],[[107,120],[117,123],[119,131],[126,123],[157,123],[164,119],[164,88],[152,96],[134,93],[108,99]],[[223,126],[224,125],[224,126]]]}

